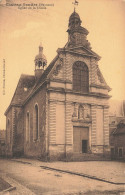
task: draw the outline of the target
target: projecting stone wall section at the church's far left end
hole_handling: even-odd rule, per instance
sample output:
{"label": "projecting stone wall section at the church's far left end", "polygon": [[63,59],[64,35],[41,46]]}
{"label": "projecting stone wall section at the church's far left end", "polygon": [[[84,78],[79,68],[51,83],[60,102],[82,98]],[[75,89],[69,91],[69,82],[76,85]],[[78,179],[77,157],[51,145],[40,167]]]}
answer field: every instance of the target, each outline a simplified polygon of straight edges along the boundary
{"label": "projecting stone wall section at the church's far left end", "polygon": [[21,107],[12,106],[6,116],[6,156],[18,155],[19,148],[23,148],[24,128],[23,116],[20,115],[20,112]]}

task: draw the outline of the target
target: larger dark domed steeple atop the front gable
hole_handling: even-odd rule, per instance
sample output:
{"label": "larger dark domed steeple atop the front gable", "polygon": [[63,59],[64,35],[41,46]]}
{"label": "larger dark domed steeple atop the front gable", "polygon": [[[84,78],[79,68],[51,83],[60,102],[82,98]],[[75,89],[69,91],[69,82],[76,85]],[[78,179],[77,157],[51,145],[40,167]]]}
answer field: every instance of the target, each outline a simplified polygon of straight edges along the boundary
{"label": "larger dark domed steeple atop the front gable", "polygon": [[90,43],[88,42],[87,35],[88,30],[81,26],[81,19],[78,13],[76,13],[75,9],[74,12],[69,17],[69,24],[68,24],[68,46],[69,47],[77,47],[77,46],[84,46],[88,49],[90,48]]}

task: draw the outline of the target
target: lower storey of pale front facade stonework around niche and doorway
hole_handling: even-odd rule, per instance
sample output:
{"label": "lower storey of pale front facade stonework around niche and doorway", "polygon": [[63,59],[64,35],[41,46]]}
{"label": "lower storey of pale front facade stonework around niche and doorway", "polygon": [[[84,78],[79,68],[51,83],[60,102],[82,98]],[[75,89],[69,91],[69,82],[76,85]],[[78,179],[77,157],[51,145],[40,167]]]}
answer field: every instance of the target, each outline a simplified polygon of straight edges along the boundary
{"label": "lower storey of pale front facade stonework around niche and doorway", "polygon": [[[106,101],[103,102],[104,105],[100,106],[100,104],[94,104],[96,98],[90,101],[91,97],[82,96],[81,99],[81,96],[78,95],[69,96],[59,92],[51,92],[49,98],[49,152],[52,159],[72,156],[74,125],[89,127],[89,143],[92,153],[103,154],[109,152],[108,108],[105,107]],[[76,104],[75,108],[74,103]],[[79,105],[89,106],[89,119],[78,119]],[[73,117],[74,109],[76,109],[75,117]],[[100,112],[97,112],[98,110],[101,112],[101,116]]]}

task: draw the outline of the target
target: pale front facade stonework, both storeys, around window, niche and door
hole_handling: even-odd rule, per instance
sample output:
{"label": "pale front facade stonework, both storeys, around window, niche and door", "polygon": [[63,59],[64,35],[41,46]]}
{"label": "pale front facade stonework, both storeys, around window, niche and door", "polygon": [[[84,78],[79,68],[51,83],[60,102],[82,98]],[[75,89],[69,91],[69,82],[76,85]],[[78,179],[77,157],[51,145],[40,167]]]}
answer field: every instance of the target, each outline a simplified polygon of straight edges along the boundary
{"label": "pale front facade stonework, both storeys, around window, niche and door", "polygon": [[[57,75],[54,75],[54,77],[50,79],[50,84],[48,85],[48,89],[51,88],[48,96],[48,130],[50,158],[72,158],[74,125],[89,127],[89,147],[92,153],[101,155],[107,153],[109,152],[108,98],[104,98],[101,95],[92,96],[90,94],[85,95],[72,91],[72,66],[74,62],[83,61],[86,63],[89,69],[89,86],[91,86],[91,84],[99,83],[99,78],[97,75],[97,60],[89,57],[83,58],[82,56],[71,55],[68,53],[66,53],[65,55],[61,54],[61,58],[63,59],[63,64],[60,67],[60,71]],[[100,83],[100,86],[101,85],[103,86],[104,83]],[[99,87],[96,88],[95,92],[105,95],[108,94],[107,89],[101,89]],[[77,117],[75,120],[73,120],[72,115],[74,104],[77,104],[77,112],[79,105],[88,105],[90,107],[89,121],[80,121]],[[60,107],[60,109],[58,109],[59,105],[63,106],[63,108]],[[64,113],[62,114],[62,112]],[[65,119],[65,122],[61,119],[60,129],[59,116],[63,116]],[[61,142],[59,143],[58,139],[60,139],[60,136],[62,136],[61,139],[63,141],[61,140]]]}

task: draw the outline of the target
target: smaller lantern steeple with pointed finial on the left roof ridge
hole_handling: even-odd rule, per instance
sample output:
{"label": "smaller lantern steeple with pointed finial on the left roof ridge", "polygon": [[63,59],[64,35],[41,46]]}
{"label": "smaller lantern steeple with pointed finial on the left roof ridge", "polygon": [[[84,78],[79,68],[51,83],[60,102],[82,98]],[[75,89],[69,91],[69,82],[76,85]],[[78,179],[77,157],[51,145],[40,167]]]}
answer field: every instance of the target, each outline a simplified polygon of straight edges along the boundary
{"label": "smaller lantern steeple with pointed finial on the left roof ridge", "polygon": [[47,60],[43,54],[42,43],[39,45],[39,54],[35,57],[35,77],[38,79],[44,72],[44,67],[47,65]]}

